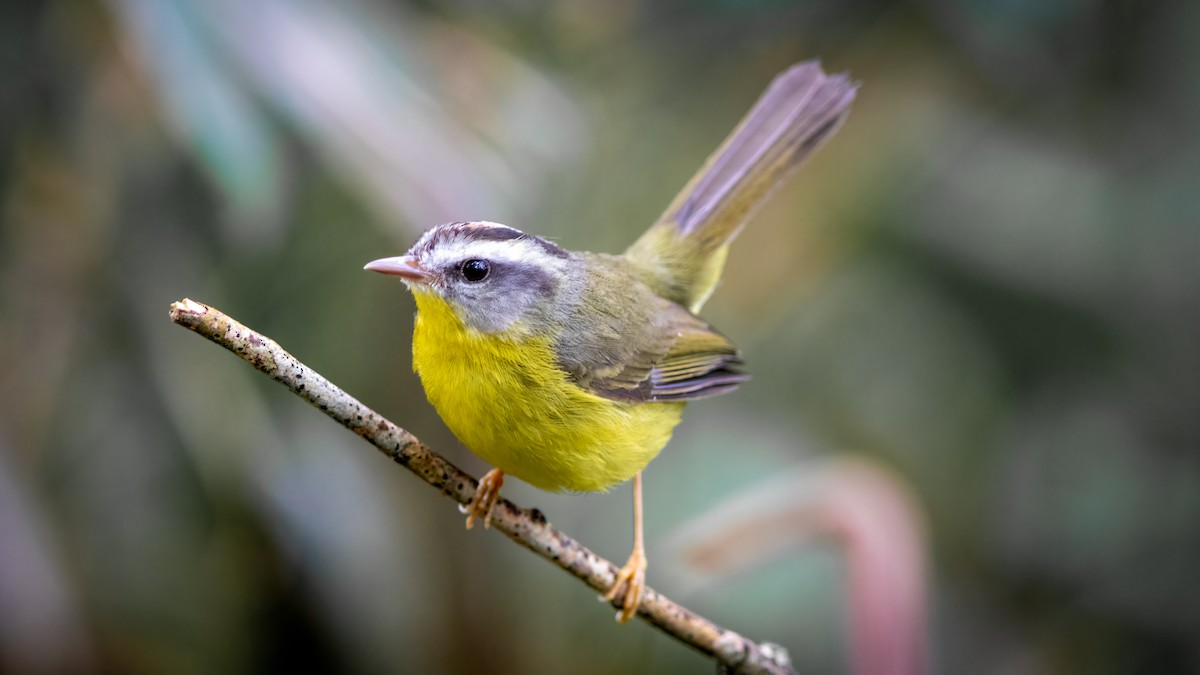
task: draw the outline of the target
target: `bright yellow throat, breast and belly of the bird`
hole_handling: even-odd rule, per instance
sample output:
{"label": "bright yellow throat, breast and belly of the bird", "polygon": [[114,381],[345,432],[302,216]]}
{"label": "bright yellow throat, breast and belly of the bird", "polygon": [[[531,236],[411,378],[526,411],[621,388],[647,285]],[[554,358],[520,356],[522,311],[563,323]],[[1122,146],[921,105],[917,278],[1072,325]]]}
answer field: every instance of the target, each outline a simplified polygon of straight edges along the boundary
{"label": "bright yellow throat, breast and belly of the bird", "polygon": [[596,396],[556,368],[548,339],[469,330],[439,297],[414,295],[413,369],[425,395],[463,444],[505,473],[544,490],[606,490],[644,468],[679,423],[682,402]]}

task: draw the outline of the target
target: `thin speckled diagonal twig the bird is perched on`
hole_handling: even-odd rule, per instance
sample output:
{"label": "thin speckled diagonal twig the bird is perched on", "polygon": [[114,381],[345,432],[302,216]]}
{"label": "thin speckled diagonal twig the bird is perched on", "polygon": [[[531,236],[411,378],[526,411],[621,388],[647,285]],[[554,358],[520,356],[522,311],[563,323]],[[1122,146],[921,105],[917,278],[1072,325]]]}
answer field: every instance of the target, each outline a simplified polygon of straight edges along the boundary
{"label": "thin speckled diagonal twig the bird is perched on", "polygon": [[[474,478],[425,447],[408,431],[335,387],[270,338],[246,328],[220,310],[187,299],[170,305],[170,319],[238,354],[460,504],[469,502],[475,494]],[[546,516],[535,508],[518,508],[502,498],[492,513],[492,527],[596,591],[607,591],[616,578],[616,566],[551,527]],[[649,587],[642,596],[637,614],[667,635],[712,656],[722,670],[794,673],[781,647],[760,645],[721,628]]]}

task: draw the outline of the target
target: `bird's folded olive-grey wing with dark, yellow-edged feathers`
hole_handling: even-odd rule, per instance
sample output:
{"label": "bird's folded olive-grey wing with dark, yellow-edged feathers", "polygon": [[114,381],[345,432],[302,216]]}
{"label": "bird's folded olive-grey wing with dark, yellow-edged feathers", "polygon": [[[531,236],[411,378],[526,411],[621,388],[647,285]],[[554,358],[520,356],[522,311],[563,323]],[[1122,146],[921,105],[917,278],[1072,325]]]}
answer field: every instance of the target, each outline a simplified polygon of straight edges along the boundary
{"label": "bird's folded olive-grey wing with dark, yellow-edged feathers", "polygon": [[[599,280],[604,281],[604,280]],[[624,402],[684,401],[732,392],[748,375],[737,347],[703,319],[637,285],[636,297],[612,285],[581,304],[557,350],[563,370],[581,387]],[[608,288],[608,292],[604,292]]]}

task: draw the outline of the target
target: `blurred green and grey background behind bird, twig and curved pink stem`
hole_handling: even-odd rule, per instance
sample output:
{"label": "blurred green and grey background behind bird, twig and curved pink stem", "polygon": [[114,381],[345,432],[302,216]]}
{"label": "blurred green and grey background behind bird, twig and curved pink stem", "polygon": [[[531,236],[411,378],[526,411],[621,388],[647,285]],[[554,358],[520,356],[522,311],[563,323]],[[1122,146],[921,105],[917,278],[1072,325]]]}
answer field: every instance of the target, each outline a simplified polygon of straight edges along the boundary
{"label": "blurred green and grey background behind bird, twig and curved pink stem", "polygon": [[[924,508],[935,671],[1200,671],[1186,0],[2,4],[0,671],[710,671],[167,306],[479,474],[361,265],[469,219],[618,251],[818,56],[859,100],[706,310],[755,380],[649,467],[650,584],[845,671],[830,549],[685,589],[661,542],[862,456]],[[628,555],[628,486],[505,494]]]}

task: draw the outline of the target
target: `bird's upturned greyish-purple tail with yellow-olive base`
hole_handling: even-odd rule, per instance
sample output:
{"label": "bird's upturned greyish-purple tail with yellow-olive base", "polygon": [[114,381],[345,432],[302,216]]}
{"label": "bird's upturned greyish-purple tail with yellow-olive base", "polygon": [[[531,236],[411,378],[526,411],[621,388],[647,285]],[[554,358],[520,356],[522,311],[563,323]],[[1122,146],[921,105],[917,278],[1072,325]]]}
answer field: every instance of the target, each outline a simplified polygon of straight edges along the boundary
{"label": "bird's upturned greyish-purple tail with yellow-olive base", "polygon": [[838,131],[857,89],[845,74],[827,76],[816,61],[780,73],[625,257],[660,295],[698,311],[716,287],[730,241]]}

